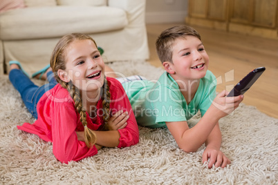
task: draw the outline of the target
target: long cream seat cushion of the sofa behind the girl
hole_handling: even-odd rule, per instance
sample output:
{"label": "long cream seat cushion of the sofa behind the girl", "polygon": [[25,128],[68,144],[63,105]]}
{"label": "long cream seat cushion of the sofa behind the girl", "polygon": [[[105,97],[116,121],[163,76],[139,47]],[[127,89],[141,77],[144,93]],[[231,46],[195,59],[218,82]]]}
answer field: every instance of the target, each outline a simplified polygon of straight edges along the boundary
{"label": "long cream seat cushion of the sofa behind the girl", "polygon": [[127,14],[108,6],[32,7],[3,12],[0,39],[46,39],[72,32],[93,34],[123,29]]}

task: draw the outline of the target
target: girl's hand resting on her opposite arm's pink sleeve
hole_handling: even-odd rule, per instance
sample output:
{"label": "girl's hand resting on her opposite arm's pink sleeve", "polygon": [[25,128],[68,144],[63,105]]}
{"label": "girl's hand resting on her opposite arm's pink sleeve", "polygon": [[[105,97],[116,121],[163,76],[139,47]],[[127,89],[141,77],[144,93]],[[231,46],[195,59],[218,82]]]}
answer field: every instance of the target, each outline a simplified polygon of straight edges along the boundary
{"label": "girl's hand resting on her opposite arm's pink sleeve", "polygon": [[108,121],[109,130],[118,130],[127,126],[127,119],[129,119],[129,113],[123,110],[119,110],[117,113],[112,115]]}

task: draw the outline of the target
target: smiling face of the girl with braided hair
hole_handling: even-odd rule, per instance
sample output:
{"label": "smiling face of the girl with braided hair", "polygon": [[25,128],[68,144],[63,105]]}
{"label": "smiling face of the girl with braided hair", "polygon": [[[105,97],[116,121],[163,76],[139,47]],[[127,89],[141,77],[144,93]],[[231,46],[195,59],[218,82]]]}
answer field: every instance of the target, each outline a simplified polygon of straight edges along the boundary
{"label": "smiling face of the girl with braided hair", "polygon": [[75,40],[64,50],[66,70],[63,81],[73,81],[82,91],[100,90],[104,84],[104,62],[90,39]]}

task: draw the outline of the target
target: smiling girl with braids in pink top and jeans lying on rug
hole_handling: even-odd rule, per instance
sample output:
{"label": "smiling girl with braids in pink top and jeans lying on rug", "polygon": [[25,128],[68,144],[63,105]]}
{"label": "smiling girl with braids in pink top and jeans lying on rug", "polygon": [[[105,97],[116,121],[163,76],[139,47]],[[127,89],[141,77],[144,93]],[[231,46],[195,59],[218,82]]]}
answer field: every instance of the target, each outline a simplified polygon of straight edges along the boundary
{"label": "smiling girl with braids in pink top and jeans lying on rug", "polygon": [[9,79],[37,119],[17,128],[52,142],[53,154],[66,164],[96,155],[102,146],[122,148],[139,142],[129,99],[118,80],[105,76],[104,61],[91,37],[62,37],[50,67],[54,73],[45,74],[49,84],[38,87],[18,61],[10,61]]}

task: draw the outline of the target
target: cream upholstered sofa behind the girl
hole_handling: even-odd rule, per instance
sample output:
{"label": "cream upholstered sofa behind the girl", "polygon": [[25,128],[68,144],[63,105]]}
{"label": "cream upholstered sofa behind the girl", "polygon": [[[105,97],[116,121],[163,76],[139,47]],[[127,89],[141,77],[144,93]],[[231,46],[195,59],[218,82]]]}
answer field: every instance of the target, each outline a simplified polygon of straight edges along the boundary
{"label": "cream upholstered sofa behind the girl", "polygon": [[145,0],[24,1],[26,8],[0,13],[0,74],[10,60],[30,75],[43,68],[59,38],[71,32],[91,35],[104,48],[104,61],[149,58]]}

